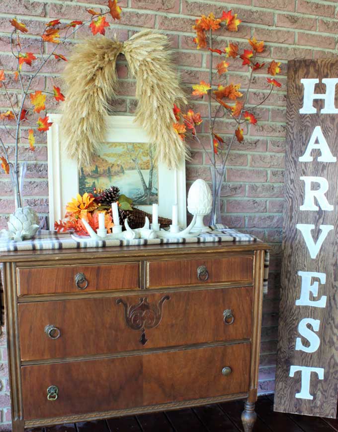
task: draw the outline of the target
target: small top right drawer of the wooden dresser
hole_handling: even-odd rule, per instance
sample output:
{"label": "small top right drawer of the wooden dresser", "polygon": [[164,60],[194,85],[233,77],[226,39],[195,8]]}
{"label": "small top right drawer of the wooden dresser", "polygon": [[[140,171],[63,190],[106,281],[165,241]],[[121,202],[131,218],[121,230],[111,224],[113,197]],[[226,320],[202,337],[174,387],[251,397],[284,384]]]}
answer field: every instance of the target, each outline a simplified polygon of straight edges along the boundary
{"label": "small top right drawer of the wooden dresser", "polygon": [[253,255],[149,261],[147,288],[251,282],[253,269]]}

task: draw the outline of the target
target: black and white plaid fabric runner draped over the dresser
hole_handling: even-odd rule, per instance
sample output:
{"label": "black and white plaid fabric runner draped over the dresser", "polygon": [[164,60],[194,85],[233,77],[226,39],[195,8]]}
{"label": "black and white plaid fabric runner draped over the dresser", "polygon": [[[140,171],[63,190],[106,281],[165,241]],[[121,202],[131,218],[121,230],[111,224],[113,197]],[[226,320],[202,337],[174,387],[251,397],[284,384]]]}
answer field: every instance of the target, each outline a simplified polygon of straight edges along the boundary
{"label": "black and white plaid fabric runner draped over the dresser", "polygon": [[[134,245],[161,245],[168,243],[208,243],[208,242],[255,242],[257,239],[249,234],[240,233],[217,224],[210,227],[211,232],[200,234],[197,237],[186,239],[134,239],[134,240],[92,240],[90,237],[74,240],[71,234],[57,234],[55,231],[40,230],[31,240],[23,242],[7,241],[0,239],[0,254],[17,250],[42,250],[42,249],[72,249],[85,247],[108,247],[108,246],[134,246]],[[0,257],[1,260],[1,257]],[[267,293],[267,274],[269,268],[269,252],[265,251],[264,262],[264,285],[263,292]],[[0,292],[1,302],[1,326],[4,324],[3,289]]]}

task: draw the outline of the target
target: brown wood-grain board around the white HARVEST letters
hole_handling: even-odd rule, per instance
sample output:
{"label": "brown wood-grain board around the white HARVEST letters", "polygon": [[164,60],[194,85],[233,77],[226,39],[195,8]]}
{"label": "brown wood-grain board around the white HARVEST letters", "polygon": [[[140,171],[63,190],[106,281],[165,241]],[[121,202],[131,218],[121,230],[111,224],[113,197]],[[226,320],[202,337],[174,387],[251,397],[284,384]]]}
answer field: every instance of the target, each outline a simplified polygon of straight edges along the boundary
{"label": "brown wood-grain board around the white HARVEST letters", "polygon": [[[338,394],[338,163],[318,161],[320,152],[312,151],[313,162],[300,162],[299,157],[305,152],[315,126],[320,125],[334,156],[338,155],[338,116],[333,114],[303,115],[299,109],[303,106],[304,87],[302,78],[319,78],[316,93],[325,93],[326,86],[322,79],[338,76],[338,61],[291,61],[288,63],[287,96],[287,136],[285,159],[285,205],[283,227],[283,267],[280,300],[279,343],[276,373],[275,405],[277,411],[303,413],[324,417],[336,417]],[[336,107],[338,98],[336,91]],[[323,100],[314,101],[314,107],[322,108]],[[301,176],[319,176],[329,181],[326,197],[334,206],[334,211],[300,211],[304,203],[304,182]],[[303,236],[296,229],[296,224],[314,224],[314,239],[320,234],[319,226],[334,225],[319,254],[311,259]],[[319,298],[328,296],[325,309],[295,306],[300,296],[301,278],[298,271],[326,273],[326,284],[319,285]],[[318,299],[312,299],[318,300]],[[295,351],[295,341],[299,335],[298,324],[302,318],[320,319],[317,332],[321,345],[315,353]],[[303,344],[308,344],[302,338]],[[296,399],[300,391],[300,372],[289,377],[290,366],[322,367],[325,369],[324,380],[312,374],[310,393],[313,400]]]}

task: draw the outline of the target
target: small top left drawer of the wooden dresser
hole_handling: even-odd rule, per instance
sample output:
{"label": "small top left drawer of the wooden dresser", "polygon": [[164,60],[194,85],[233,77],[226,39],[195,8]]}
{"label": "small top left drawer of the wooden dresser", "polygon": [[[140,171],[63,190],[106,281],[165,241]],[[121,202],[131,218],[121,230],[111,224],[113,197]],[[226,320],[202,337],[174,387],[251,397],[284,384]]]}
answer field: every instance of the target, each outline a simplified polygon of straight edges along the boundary
{"label": "small top left drawer of the wooden dresser", "polygon": [[21,267],[18,295],[66,294],[140,288],[140,262]]}

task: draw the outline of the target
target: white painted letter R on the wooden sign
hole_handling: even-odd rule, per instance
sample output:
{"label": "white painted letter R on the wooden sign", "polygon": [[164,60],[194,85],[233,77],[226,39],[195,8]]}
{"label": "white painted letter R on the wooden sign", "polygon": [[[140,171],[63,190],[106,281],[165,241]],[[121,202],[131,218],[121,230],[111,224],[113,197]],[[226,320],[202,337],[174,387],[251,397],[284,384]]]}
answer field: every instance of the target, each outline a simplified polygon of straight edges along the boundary
{"label": "white painted letter R on the wooden sign", "polygon": [[[334,206],[329,204],[326,192],[329,189],[329,182],[324,177],[300,177],[305,183],[305,197],[304,204],[299,207],[299,210],[313,210],[318,211],[319,208],[315,204],[315,198],[322,210],[332,211]],[[312,190],[311,183],[318,183],[319,189]]]}

